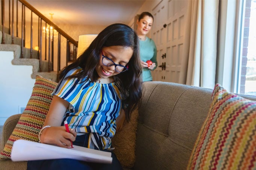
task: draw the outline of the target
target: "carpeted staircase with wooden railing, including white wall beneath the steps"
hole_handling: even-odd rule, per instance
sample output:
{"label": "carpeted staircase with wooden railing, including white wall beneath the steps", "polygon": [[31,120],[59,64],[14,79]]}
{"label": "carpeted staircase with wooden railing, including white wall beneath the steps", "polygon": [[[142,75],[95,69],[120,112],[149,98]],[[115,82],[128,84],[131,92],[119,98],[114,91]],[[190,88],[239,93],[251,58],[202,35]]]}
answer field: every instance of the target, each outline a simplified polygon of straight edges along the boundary
{"label": "carpeted staircase with wooden railing, including white wall beneath the steps", "polygon": [[[22,113],[26,107],[36,75],[58,82],[60,70],[76,59],[78,42],[27,1],[0,2],[0,126],[3,126],[8,117]],[[47,34],[44,26],[52,27],[56,34],[51,34],[52,31]]]}

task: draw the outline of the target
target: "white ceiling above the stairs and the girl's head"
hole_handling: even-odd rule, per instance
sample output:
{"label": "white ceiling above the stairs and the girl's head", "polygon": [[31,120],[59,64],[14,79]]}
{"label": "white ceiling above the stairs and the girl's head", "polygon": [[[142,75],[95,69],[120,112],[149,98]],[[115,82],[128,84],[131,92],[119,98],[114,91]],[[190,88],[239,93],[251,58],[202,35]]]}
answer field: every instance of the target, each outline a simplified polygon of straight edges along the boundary
{"label": "white ceiling above the stairs and the girl's head", "polygon": [[129,24],[145,0],[27,0],[55,24]]}

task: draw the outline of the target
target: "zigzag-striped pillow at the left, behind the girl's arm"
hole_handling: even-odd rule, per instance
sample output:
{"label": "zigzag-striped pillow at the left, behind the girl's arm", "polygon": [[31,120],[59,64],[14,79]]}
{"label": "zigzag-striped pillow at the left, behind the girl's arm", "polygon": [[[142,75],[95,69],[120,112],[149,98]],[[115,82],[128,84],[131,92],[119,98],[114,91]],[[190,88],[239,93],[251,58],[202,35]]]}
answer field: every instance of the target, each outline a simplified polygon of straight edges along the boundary
{"label": "zigzag-striped pillow at the left, behind the girl's arm", "polygon": [[44,124],[51,100],[53,99],[51,93],[56,86],[56,82],[36,75],[32,95],[14,131],[6,142],[0,158],[9,159],[11,157],[12,145],[15,140],[25,139],[38,142],[38,133]]}

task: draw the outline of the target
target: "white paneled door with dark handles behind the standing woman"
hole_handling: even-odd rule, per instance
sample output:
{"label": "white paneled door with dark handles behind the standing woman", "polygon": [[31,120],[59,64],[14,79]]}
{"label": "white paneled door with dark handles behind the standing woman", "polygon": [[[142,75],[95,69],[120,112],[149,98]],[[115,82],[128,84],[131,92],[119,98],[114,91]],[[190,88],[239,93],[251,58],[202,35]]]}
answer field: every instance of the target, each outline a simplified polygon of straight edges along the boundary
{"label": "white paneled door with dark handles behind the standing woman", "polygon": [[153,81],[179,81],[187,3],[187,0],[163,0],[152,10],[151,32],[158,62],[158,68],[152,71]]}

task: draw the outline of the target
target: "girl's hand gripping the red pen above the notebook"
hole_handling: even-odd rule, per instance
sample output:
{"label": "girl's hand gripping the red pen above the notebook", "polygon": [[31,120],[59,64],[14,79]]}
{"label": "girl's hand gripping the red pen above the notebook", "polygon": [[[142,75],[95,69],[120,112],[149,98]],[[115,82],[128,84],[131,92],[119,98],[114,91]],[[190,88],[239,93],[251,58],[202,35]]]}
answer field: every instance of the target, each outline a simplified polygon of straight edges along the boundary
{"label": "girl's hand gripping the red pen above the notebook", "polygon": [[77,133],[69,128],[70,133],[66,132],[65,126],[48,127],[42,131],[40,136],[41,143],[57,145],[63,148],[71,148],[71,142],[75,141]]}

